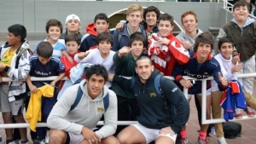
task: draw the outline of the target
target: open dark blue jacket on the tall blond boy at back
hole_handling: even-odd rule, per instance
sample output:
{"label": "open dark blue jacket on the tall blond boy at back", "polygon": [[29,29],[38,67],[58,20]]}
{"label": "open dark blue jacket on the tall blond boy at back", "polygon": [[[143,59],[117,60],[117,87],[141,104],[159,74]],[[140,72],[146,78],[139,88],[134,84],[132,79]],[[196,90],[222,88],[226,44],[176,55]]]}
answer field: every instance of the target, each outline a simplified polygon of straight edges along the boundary
{"label": "open dark blue jacket on the tall blond boy at back", "polygon": [[[144,41],[144,48],[148,47],[148,37],[147,37],[147,32],[145,32],[143,25],[140,25],[140,29],[143,33],[143,36],[145,37]],[[122,36],[119,41],[119,34]],[[130,36],[127,32],[127,23],[124,24],[124,28],[120,31],[114,31],[113,32],[113,47],[111,50],[113,51],[118,51],[119,49],[122,49],[124,46],[129,46],[129,40]]]}

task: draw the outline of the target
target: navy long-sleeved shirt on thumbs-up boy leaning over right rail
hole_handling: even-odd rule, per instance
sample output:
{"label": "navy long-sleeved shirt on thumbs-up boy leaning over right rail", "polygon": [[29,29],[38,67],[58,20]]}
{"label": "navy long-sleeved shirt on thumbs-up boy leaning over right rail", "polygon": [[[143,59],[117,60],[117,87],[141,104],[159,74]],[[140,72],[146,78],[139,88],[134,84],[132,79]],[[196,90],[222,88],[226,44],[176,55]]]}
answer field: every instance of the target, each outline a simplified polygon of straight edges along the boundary
{"label": "navy long-sleeved shirt on thumbs-up boy leaning over right rail", "polygon": [[[194,52],[189,53],[190,59],[189,62],[180,65],[176,63],[174,70],[172,72],[173,77],[177,82],[183,79],[183,76],[189,76],[191,78],[203,79],[213,76],[213,79],[218,84],[218,89],[220,91],[224,91],[226,87],[220,84],[218,80],[218,72],[220,71],[220,66],[218,64],[218,60],[211,55],[208,56],[208,59],[199,66],[196,57],[197,54]],[[207,80],[207,89],[211,88],[211,81]],[[201,81],[195,81],[195,84],[189,88],[189,94],[200,94],[201,93]]]}

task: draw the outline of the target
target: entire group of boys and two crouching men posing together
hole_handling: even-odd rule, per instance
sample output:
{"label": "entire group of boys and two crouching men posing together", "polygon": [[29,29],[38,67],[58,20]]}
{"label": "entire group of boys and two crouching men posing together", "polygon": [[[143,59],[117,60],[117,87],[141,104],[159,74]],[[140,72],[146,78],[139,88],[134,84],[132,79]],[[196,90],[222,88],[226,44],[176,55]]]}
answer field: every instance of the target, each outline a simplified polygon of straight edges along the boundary
{"label": "entire group of boys and two crouching men posing together", "polygon": [[[59,20],[46,23],[48,37],[38,43],[34,55],[28,50],[26,28],[9,26],[7,43],[0,51],[0,74],[14,81],[0,84],[3,122],[12,124],[13,117],[16,123],[26,123],[23,107],[27,84],[33,97],[26,108],[26,120],[34,143],[187,144],[189,101],[195,95],[201,126],[198,143],[207,144],[208,124],[201,124],[201,81],[192,83],[183,76],[213,76],[207,81],[207,119],[211,118],[211,107],[212,117],[221,118],[218,101],[230,81],[236,80],[247,101],[245,111],[248,116],[255,115],[253,78],[237,78],[237,73],[255,72],[256,22],[248,17],[247,7],[243,0],[234,4],[234,19],[220,29],[220,54],[215,56],[215,39],[196,27],[193,11],[182,14],[184,32],[177,37],[172,34],[172,15],[160,14],[154,6],[143,11],[139,4],[132,4],[127,9],[127,21],[119,23],[113,32],[108,30],[108,16],[97,14],[83,37],[79,16],[70,14],[63,34]],[[75,69],[84,63],[93,65]],[[73,83],[74,71],[84,71],[84,80]],[[52,81],[31,80],[49,76],[57,77]],[[59,83],[65,76],[70,79],[68,87]],[[45,86],[53,89],[46,90]],[[183,88],[189,89],[188,100]],[[63,93],[56,101],[59,90]],[[234,111],[236,118],[242,117],[239,108]],[[98,129],[96,124],[102,116],[104,125]],[[118,126],[117,121],[122,120],[138,123]],[[37,122],[47,123],[49,128],[35,128]],[[214,127],[218,142],[226,144],[222,124]],[[26,129],[19,131],[20,143],[28,143]],[[5,129],[5,133],[7,144],[19,142],[12,129]]]}

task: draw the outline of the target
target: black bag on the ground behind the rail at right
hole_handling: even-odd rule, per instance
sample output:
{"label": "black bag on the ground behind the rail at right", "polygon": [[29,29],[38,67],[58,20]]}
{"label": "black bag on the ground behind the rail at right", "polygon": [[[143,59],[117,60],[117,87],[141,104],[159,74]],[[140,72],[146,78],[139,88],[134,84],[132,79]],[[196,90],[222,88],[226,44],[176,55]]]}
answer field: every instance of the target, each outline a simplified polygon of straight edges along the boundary
{"label": "black bag on the ground behind the rail at right", "polygon": [[235,139],[241,136],[241,124],[229,122],[223,124],[224,137],[228,139]]}

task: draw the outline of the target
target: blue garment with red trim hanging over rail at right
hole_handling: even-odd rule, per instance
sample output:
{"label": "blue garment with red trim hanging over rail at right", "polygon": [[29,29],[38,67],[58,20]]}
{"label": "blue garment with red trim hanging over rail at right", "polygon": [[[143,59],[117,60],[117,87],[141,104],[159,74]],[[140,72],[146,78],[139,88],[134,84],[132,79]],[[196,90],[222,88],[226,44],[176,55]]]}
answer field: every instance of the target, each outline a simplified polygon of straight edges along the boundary
{"label": "blue garment with red trim hanging over rail at right", "polygon": [[[234,88],[234,84],[236,84],[235,87],[238,86],[238,90]],[[234,93],[234,89],[238,92]],[[230,82],[229,88],[224,91],[221,99],[219,100],[219,105],[224,109],[224,119],[226,122],[228,122],[229,119],[234,118],[235,107],[241,109],[245,109],[247,107],[246,99],[241,89],[241,84],[237,80],[232,80],[232,82]]]}

